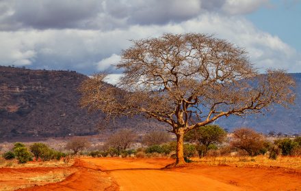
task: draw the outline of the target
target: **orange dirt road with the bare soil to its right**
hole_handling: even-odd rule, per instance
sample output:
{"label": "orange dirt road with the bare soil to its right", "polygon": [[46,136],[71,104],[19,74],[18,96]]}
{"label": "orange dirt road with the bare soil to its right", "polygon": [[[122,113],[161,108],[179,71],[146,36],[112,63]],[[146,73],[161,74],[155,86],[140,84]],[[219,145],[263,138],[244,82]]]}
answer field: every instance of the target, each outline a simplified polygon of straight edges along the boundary
{"label": "orange dirt road with the bare soil to its right", "polygon": [[114,178],[120,190],[301,190],[301,173],[283,168],[188,164],[160,169],[172,160],[87,158]]}

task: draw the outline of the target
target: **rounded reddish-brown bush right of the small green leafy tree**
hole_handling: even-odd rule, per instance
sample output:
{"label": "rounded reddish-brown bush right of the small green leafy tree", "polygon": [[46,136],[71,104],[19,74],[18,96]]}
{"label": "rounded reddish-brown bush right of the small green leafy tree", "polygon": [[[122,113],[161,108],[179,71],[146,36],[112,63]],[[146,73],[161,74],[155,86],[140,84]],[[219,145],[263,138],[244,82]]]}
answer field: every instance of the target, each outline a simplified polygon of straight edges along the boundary
{"label": "rounded reddish-brown bush right of the small green leafy tree", "polygon": [[250,128],[239,128],[233,131],[234,140],[230,145],[236,149],[247,151],[250,156],[260,153],[265,143],[263,136]]}

